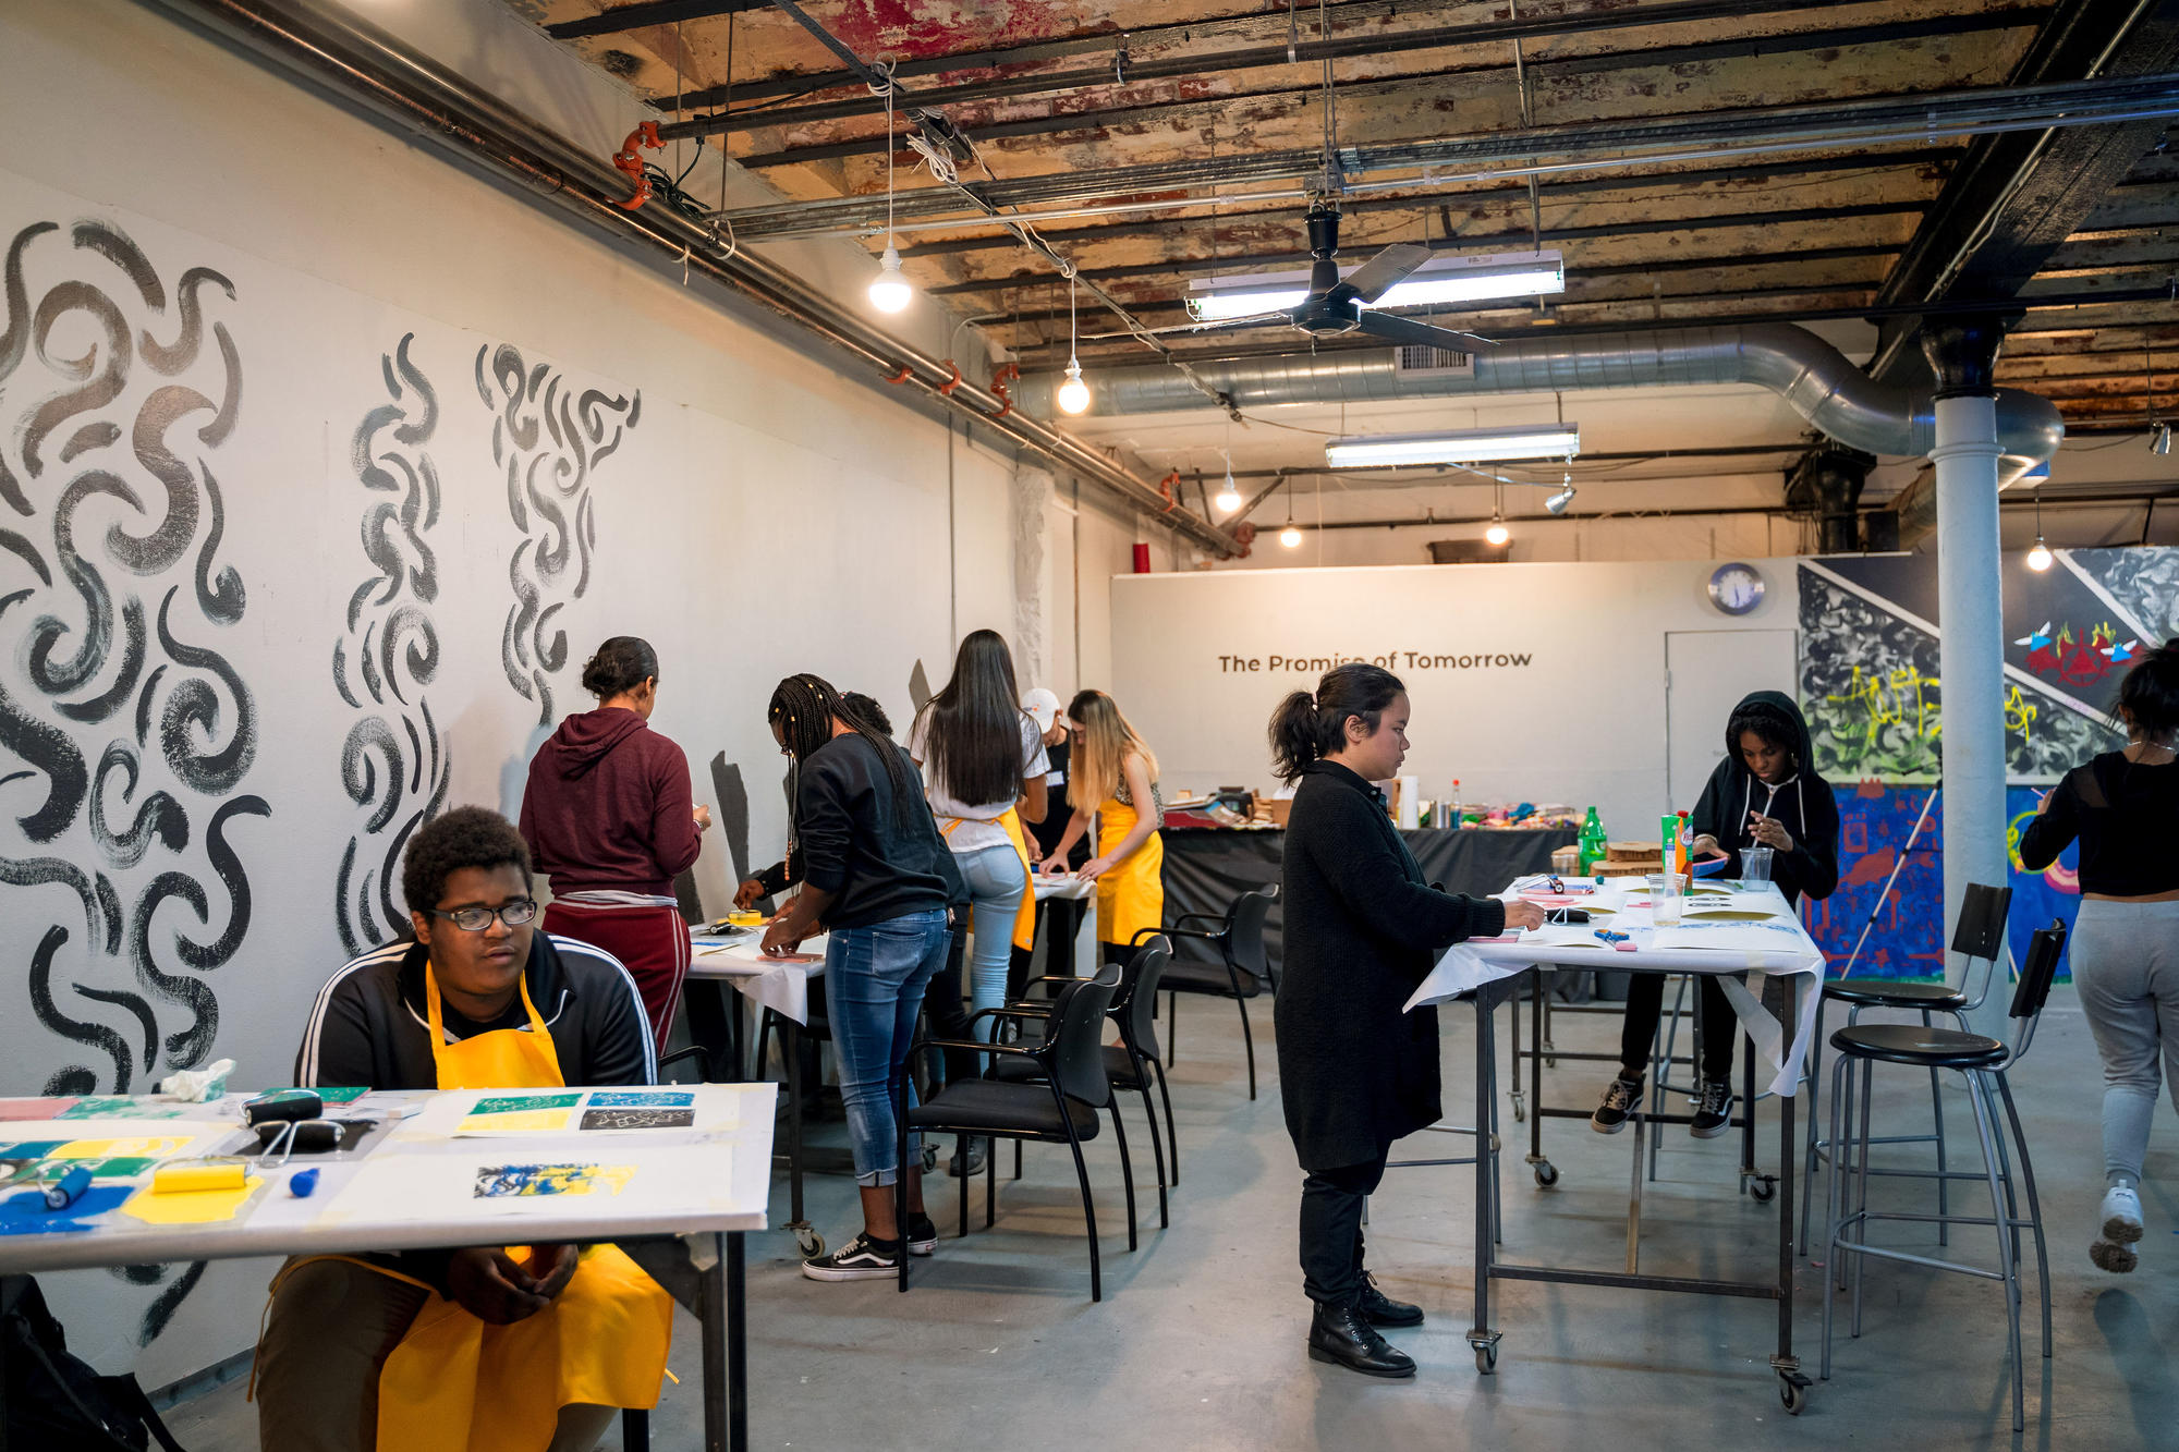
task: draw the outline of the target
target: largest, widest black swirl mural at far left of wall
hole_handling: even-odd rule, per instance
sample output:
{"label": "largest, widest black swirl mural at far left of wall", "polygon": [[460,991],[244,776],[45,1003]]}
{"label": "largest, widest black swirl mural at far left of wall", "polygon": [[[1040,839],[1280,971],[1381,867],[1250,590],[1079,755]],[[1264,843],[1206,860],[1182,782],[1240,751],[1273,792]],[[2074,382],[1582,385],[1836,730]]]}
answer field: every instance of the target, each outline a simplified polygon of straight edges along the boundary
{"label": "largest, widest black swirl mural at far left of wall", "polygon": [[[244,791],[248,591],[216,473],[244,410],[238,290],[170,279],[107,220],[31,222],[0,273],[0,900],[68,1046],[44,1092],[148,1090],[211,1057],[272,815]],[[161,1286],[148,1343],[203,1265],[118,1275]]]}

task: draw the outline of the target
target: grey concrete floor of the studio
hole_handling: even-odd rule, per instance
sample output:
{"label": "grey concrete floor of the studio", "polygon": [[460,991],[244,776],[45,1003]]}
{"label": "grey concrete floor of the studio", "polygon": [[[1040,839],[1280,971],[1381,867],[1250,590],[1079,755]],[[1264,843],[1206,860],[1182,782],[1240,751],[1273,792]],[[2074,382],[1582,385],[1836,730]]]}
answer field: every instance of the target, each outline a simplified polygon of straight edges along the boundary
{"label": "grey concrete floor of the studio", "polygon": [[[1255,1014],[1257,1031],[1268,1036],[1268,1005],[1257,1003]],[[1447,1110],[1469,1123],[1473,1018],[1447,1009],[1442,1023]],[[1501,1049],[1504,1029],[1501,1016]],[[1615,1040],[1617,1018],[1558,1018],[1560,1049],[1606,1049]],[[1379,1282],[1429,1312],[1427,1326],[1392,1332],[1421,1363],[1421,1376],[1373,1382],[1307,1360],[1307,1306],[1294,1267],[1299,1171],[1277,1073],[1268,1046],[1259,1049],[1264,1084],[1251,1103],[1231,1005],[1183,1003],[1172,1094],[1185,1182],[1172,1227],[1157,1232],[1148,1145],[1140,1134],[1131,1140],[1148,1223],[1133,1256],[1111,1136],[1092,1145],[1105,1230],[1103,1304],[1090,1304],[1072,1166],[1050,1147],[1031,1147],[1024,1179],[1002,1182],[998,1227],[965,1241],[950,1236],[952,1182],[933,1179],[933,1212],[946,1238],[935,1260],[917,1262],[917,1284],[904,1297],[889,1282],[802,1280],[787,1234],[752,1236],[752,1445],[832,1450],[952,1439],[1168,1452],[1490,1445],[1519,1437],[1530,1450],[1586,1452],[1839,1443],[2101,1450],[2179,1441],[2179,1160],[2170,1123],[2159,1114],[2148,1160],[2142,1269],[2105,1275],[2087,1260],[2103,1193],[2101,1073],[2066,988],[2013,1077],[2044,1190],[2055,1323],[2053,1358],[2042,1360],[2031,1265],[2029,1430],[2020,1437],[2011,1432],[2000,1288],[1904,1265],[1870,1262],[1863,1336],[1846,1339],[1841,1323],[1833,1380],[1815,1387],[1802,1417],[1785,1415],[1769,1371],[1769,1302],[1499,1282],[1499,1369],[1477,1376],[1464,1341],[1473,1291],[1469,1169],[1392,1171],[1373,1201],[1371,1265]],[[1915,1090],[1907,1073],[1887,1084],[1878,1070],[1878,1121],[1894,1132],[1924,1125],[1922,1084]],[[1599,1066],[1547,1073],[1554,1103],[1586,1108],[1599,1088]],[[1769,1108],[1758,1140],[1765,1166],[1776,1153]],[[1137,1108],[1131,1127],[1140,1123]],[[1959,1090],[1950,1090],[1948,1123],[1972,1123]],[[1508,1116],[1504,1129],[1521,1136],[1510,1149],[1525,1151],[1525,1125]],[[1464,1145],[1427,1138],[1416,1153],[1460,1153]],[[839,1125],[817,1132],[817,1142],[835,1140]],[[1527,1166],[1508,1155],[1506,1258],[1619,1269],[1632,1140],[1547,1121],[1545,1149],[1560,1169],[1551,1190],[1538,1190]],[[1957,1158],[1974,1158],[1972,1129]],[[1643,1269],[1761,1278],[1774,1265],[1776,1206],[1737,1195],[1734,1166],[1737,1138],[1697,1145],[1667,1132],[1658,1182],[1647,1190]],[[1878,1182],[1874,1199],[1904,1206],[1926,1197],[1924,1186]],[[811,1214],[828,1236],[852,1232],[850,1203],[852,1182],[811,1179]],[[784,1186],[776,1210],[784,1217]],[[974,1203],[972,1225],[981,1223]],[[1992,1265],[1989,1236],[1961,1227],[1955,1254]],[[1933,1230],[1915,1225],[1883,1232],[1885,1243],[1902,1247],[1933,1249]],[[1809,1262],[1800,1293],[1795,1345],[1813,1374],[1822,1275]],[[682,1387],[667,1389],[654,1445],[695,1448],[697,1330],[686,1317],[675,1330],[673,1371]],[[172,1426],[196,1452],[257,1445],[240,1384],[176,1408]],[[619,1437],[606,1445],[617,1448]]]}

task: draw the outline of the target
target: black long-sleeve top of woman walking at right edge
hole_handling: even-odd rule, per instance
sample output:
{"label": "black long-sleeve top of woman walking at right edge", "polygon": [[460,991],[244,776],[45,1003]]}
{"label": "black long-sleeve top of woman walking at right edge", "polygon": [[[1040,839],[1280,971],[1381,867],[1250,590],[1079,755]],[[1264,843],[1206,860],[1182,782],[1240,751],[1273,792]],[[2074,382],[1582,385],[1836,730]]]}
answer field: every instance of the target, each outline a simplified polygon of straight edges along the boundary
{"label": "black long-sleeve top of woman walking at right edge", "polygon": [[2179,761],[2142,765],[2103,752],[2066,772],[2020,833],[2020,866],[2042,872],[2081,839],[2081,892],[2146,898],[2179,890]]}

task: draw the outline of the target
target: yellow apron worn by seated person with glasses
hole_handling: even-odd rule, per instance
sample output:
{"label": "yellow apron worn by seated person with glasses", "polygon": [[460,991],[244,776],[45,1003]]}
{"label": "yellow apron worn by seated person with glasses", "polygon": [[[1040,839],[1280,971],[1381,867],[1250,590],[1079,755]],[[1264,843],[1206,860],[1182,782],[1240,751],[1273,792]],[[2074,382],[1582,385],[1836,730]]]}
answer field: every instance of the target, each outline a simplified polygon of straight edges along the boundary
{"label": "yellow apron worn by seated person with glasses", "polygon": [[[445,1042],[429,964],[423,994],[438,1088],[567,1084],[527,981],[527,1033],[495,1029],[458,1044]],[[379,1374],[377,1452],[540,1452],[562,1406],[656,1406],[671,1339],[673,1297],[614,1245],[586,1249],[560,1297],[514,1326],[486,1326],[434,1295]]]}

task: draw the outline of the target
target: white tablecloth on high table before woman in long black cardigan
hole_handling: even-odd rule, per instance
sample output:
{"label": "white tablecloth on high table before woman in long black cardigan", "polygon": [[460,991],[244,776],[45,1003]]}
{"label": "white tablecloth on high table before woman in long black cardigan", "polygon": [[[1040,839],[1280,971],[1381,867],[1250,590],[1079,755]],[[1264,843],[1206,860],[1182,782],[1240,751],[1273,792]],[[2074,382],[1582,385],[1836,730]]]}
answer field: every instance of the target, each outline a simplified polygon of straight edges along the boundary
{"label": "white tablecloth on high table before woman in long black cardigan", "polygon": [[[1567,883],[1597,883],[1599,879],[1562,879]],[[1523,879],[1501,892],[1501,898],[1512,898],[1521,887],[1532,885],[1532,879]],[[1782,922],[1793,924],[1793,935],[1798,944],[1791,948],[1769,948],[1769,951],[1715,951],[1715,948],[1658,948],[1656,946],[1656,924],[1652,920],[1650,894],[1641,890],[1641,879],[1610,879],[1604,883],[1606,892],[1621,894],[1617,900],[1623,907],[1610,918],[1599,918],[1591,927],[1608,927],[1615,933],[1626,933],[1634,951],[1612,948],[1604,942],[1591,937],[1584,942],[1536,942],[1538,937],[1551,935],[1551,929],[1541,933],[1521,933],[1508,940],[1484,940],[1484,942],[1462,942],[1453,944],[1438,959],[1438,966],[1423,979],[1423,985],[1414,990],[1408,999],[1408,1007],[1421,1007],[1425,1003],[1447,1003],[1464,992],[1473,992],[1484,983],[1497,979],[1510,979],[1512,975],[1536,966],[1549,964],[1556,968],[1593,968],[1599,972],[1610,970],[1641,970],[1641,972],[1708,972],[1719,975],[1726,999],[1732,1003],[1732,1012],[1739,1014],[1741,1025],[1748,1029],[1748,1038],[1754,1040],[1756,1051],[1776,1070],[1769,1081],[1769,1092],[1793,1094],[1800,1088],[1800,1066],[1809,1053],[1809,1038],[1815,1033],[1815,1007],[1824,996],[1824,951],[1815,946],[1809,931],[1800,924],[1800,916],[1785,905],[1785,896],[1772,883],[1748,883],[1748,892],[1767,892],[1776,898],[1778,913]],[[1702,890],[1713,887],[1741,887],[1739,883],[1702,883]],[[1778,1023],[1776,1014],[1763,1007],[1763,979],[1767,977],[1791,977],[1795,1005],[1793,1005],[1793,1042],[1785,1042],[1785,1027]]]}

